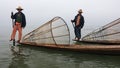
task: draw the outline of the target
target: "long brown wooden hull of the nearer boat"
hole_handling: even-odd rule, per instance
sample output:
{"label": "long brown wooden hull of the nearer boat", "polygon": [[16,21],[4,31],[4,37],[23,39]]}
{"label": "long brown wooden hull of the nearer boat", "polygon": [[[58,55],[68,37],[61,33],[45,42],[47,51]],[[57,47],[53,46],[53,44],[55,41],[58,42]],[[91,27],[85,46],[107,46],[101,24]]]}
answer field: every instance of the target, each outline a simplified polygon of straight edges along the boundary
{"label": "long brown wooden hull of the nearer boat", "polygon": [[52,45],[52,44],[37,44],[30,42],[22,42],[24,45],[39,46],[51,49],[59,49],[63,51],[76,51],[79,53],[95,53],[95,54],[120,54],[120,45]]}

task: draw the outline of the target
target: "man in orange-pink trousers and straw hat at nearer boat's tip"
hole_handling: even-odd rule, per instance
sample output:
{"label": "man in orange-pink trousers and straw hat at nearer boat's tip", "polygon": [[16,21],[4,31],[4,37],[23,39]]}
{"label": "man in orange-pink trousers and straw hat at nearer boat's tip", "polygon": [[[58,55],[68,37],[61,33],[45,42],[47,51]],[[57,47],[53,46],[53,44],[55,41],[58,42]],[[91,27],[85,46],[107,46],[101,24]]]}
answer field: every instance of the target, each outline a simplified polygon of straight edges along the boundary
{"label": "man in orange-pink trousers and straw hat at nearer boat's tip", "polygon": [[16,8],[16,10],[18,12],[16,12],[15,14],[11,12],[11,18],[12,20],[15,20],[15,22],[13,22],[13,31],[11,34],[10,41],[15,41],[15,35],[16,35],[16,32],[18,31],[17,42],[20,43],[21,38],[22,38],[22,28],[25,28],[26,26],[26,18],[25,18],[24,13],[21,12],[23,9],[20,6]]}

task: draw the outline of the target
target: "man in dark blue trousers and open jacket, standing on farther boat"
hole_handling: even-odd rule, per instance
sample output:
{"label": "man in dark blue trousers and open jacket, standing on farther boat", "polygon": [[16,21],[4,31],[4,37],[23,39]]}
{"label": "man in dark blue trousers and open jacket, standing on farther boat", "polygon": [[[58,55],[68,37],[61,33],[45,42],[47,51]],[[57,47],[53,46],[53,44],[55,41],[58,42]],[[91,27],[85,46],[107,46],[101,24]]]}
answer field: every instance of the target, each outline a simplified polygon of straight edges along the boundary
{"label": "man in dark blue trousers and open jacket, standing on farther boat", "polygon": [[75,39],[76,41],[80,41],[81,39],[81,29],[84,26],[84,17],[82,16],[82,9],[78,11],[78,14],[75,16],[74,20],[71,20],[72,23],[75,24],[74,32],[75,32]]}

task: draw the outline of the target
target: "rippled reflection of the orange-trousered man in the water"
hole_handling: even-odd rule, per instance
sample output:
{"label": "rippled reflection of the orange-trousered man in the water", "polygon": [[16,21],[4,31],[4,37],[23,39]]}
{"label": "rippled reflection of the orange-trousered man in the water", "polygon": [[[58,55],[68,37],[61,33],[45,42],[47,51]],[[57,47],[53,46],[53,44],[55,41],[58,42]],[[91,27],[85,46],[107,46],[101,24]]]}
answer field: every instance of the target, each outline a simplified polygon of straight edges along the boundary
{"label": "rippled reflection of the orange-trousered man in the water", "polygon": [[25,55],[22,54],[22,48],[19,46],[11,46],[12,60],[9,64],[9,68],[29,68],[25,63]]}

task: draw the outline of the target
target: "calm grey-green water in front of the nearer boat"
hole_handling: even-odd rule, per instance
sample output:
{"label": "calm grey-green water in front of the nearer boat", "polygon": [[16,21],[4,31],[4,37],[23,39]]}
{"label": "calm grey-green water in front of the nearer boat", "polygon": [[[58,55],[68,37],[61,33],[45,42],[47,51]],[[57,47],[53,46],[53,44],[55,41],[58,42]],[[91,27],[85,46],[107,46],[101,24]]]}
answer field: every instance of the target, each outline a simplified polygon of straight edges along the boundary
{"label": "calm grey-green water in front of the nearer boat", "polygon": [[0,68],[120,68],[120,56],[83,54],[0,40]]}

